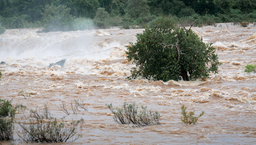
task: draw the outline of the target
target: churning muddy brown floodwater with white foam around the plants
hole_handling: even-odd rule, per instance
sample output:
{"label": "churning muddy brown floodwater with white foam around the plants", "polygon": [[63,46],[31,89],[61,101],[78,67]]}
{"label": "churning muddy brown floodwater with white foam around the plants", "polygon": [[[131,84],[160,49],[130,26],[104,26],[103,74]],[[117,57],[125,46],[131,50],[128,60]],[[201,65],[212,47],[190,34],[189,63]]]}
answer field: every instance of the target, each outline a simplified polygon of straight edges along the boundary
{"label": "churning muddy brown floodwater with white foam around the plants", "polygon": [[[27,106],[24,114],[16,114],[16,121],[28,121],[24,115],[42,109],[46,102],[57,118],[82,117],[82,138],[65,144],[254,144],[256,74],[245,73],[244,66],[256,64],[256,27],[228,26],[192,28],[205,42],[213,43],[223,63],[219,74],[194,82],[125,79],[135,66],[126,59],[125,45],[135,42],[142,29],[7,30],[0,35],[0,62],[7,63],[0,64],[0,97]],[[64,68],[48,68],[61,59],[67,59]],[[21,90],[30,92],[30,98],[19,95]],[[80,98],[88,112],[80,109],[67,115],[56,107]],[[159,111],[161,125],[129,128],[114,122],[105,104],[121,107],[133,101]],[[180,103],[197,115],[202,110],[206,114],[197,124],[184,125]],[[19,125],[15,127],[16,144],[27,144],[19,140]]]}

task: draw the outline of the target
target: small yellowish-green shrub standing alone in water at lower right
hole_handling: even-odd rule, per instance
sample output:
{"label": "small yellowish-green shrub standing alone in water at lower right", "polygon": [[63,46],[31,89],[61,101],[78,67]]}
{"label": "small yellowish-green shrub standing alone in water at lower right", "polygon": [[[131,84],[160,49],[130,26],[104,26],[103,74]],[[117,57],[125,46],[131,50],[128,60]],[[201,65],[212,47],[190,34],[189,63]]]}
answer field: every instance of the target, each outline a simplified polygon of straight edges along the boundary
{"label": "small yellowish-green shrub standing alone in water at lower right", "polygon": [[187,107],[185,107],[184,105],[181,106],[181,111],[182,111],[182,118],[181,121],[184,124],[196,124],[197,120],[199,117],[201,117],[205,111],[202,111],[200,113],[199,116],[194,116],[195,115],[195,111],[190,111],[189,113],[186,111]]}

